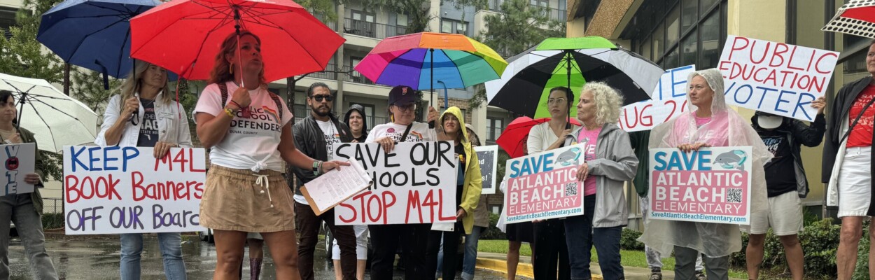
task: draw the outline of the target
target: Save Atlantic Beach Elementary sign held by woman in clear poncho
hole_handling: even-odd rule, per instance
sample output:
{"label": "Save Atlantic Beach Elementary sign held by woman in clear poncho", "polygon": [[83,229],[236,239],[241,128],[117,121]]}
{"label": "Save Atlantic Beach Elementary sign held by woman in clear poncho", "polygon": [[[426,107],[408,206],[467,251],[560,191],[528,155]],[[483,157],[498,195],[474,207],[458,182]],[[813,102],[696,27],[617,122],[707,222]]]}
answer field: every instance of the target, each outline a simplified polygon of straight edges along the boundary
{"label": "Save Atlantic Beach Elementary sign held by woman in clear poncho", "polygon": [[649,219],[750,223],[751,147],[650,149]]}

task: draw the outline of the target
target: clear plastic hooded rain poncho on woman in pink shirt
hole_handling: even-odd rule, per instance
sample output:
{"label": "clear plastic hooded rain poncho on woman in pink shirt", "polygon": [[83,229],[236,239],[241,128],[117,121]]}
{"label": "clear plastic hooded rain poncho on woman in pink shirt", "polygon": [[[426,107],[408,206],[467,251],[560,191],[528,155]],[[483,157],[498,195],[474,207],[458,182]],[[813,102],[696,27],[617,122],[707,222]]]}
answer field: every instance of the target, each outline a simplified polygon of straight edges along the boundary
{"label": "clear plastic hooded rain poncho on woman in pink shirt", "polygon": [[[723,75],[717,69],[690,73],[687,82],[702,76],[714,97],[711,100],[711,122],[696,125],[697,107],[687,95],[687,112],[656,126],[650,133],[649,148],[676,148],[681,144],[706,143],[711,146],[752,146],[753,171],[751,179],[751,215],[767,211],[766,173],[763,169],[772,153],[745,118],[726,106]],[[664,255],[671,254],[674,246],[694,248],[704,255],[720,257],[741,250],[738,225],[691,221],[648,220],[641,242]]]}

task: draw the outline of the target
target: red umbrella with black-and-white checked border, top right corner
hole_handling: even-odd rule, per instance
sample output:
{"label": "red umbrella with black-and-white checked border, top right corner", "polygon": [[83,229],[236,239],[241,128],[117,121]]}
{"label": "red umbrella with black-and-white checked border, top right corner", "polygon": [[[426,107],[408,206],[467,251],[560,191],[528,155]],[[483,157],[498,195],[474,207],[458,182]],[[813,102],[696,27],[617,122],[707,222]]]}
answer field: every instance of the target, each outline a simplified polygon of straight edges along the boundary
{"label": "red umbrella with black-and-white checked border, top right corner", "polygon": [[875,38],[875,2],[851,0],[821,30]]}

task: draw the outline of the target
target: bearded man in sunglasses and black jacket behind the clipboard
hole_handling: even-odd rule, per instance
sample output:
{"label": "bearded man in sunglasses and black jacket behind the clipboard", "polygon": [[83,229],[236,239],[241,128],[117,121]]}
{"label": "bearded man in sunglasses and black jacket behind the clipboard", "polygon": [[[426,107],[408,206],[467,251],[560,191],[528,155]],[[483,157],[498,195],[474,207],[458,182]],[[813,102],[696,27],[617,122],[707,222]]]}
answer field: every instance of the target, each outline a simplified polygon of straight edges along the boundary
{"label": "bearded man in sunglasses and black jacket behind the clipboard", "polygon": [[[295,146],[310,158],[321,161],[332,160],[333,144],[349,143],[353,141],[353,134],[349,127],[340,123],[332,113],[334,96],[331,88],[325,83],[313,83],[307,89],[307,106],[310,107],[310,116],[295,123],[291,133],[295,137]],[[334,210],[329,210],[321,215],[313,213],[304,195],[301,194],[301,186],[312,179],[316,179],[316,172],[311,169],[294,168],[297,180],[295,183],[295,224],[298,230],[297,269],[301,273],[301,279],[313,279],[313,251],[318,242],[319,225],[325,221],[325,225],[331,230],[332,236],[337,240],[340,248],[340,269],[344,280],[355,280],[356,256],[355,256],[355,232],[353,226],[334,225]]]}

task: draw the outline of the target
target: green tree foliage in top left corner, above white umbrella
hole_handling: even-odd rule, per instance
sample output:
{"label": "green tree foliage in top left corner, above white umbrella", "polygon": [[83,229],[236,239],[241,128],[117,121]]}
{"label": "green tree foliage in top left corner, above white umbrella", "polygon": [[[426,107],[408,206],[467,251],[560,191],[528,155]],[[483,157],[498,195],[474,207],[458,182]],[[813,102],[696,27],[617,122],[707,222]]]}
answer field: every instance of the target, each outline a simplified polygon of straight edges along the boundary
{"label": "green tree foliage in top left corner, above white umbrella", "polygon": [[40,15],[60,0],[24,0],[11,26],[12,38],[0,39],[0,73],[44,79],[59,83],[63,79],[63,61],[37,41]]}

